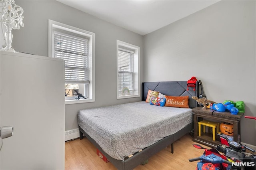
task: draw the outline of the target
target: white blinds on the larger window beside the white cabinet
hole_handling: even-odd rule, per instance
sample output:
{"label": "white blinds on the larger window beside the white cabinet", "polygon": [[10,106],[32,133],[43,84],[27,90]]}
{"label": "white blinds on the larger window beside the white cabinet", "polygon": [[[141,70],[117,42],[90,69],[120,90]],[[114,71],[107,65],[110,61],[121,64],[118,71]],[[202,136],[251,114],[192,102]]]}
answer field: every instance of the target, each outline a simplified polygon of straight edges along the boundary
{"label": "white blinds on the larger window beside the white cabinet", "polygon": [[66,83],[89,83],[88,39],[54,31],[54,55],[65,60]]}

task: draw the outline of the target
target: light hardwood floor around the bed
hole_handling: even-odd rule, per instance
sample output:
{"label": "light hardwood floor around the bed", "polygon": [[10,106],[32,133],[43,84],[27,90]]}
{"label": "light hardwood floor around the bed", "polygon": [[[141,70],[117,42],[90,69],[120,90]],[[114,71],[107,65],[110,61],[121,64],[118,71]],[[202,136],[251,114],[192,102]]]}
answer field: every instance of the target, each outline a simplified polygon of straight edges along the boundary
{"label": "light hardwood floor around the bed", "polygon": [[[170,146],[148,159],[148,164],[139,165],[134,170],[195,170],[196,163],[189,158],[201,156],[203,149],[192,146],[190,135],[185,135],[174,142],[174,153]],[[202,145],[204,146],[204,145]],[[208,146],[204,146],[209,148]],[[96,147],[84,137],[65,143],[65,170],[116,170],[111,162],[104,162],[96,154]]]}

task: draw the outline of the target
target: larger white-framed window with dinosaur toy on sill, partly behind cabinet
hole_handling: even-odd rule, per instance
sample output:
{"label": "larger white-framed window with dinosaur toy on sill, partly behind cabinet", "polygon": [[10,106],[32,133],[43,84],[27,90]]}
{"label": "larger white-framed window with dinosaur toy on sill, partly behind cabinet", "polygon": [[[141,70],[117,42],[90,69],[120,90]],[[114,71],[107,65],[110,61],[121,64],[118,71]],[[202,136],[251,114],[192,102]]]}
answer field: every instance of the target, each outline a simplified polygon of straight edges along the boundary
{"label": "larger white-framed window with dinosaur toy on sill, partly behind cabinet", "polygon": [[49,20],[49,57],[65,61],[66,104],[94,101],[94,33]]}

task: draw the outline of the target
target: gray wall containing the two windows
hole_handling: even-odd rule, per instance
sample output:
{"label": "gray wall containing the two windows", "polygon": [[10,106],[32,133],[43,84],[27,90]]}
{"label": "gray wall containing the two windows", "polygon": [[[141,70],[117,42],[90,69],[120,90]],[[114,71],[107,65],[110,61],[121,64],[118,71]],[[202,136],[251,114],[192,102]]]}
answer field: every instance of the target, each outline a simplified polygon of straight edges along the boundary
{"label": "gray wall containing the two windows", "polygon": [[[13,31],[12,46],[16,51],[48,56],[48,19],[95,33],[95,102],[66,105],[66,130],[78,128],[76,114],[80,109],[141,101],[141,97],[116,99],[116,40],[143,49],[141,35],[57,1],[28,0],[16,1],[16,4],[24,10],[24,28]],[[140,52],[140,60],[142,75],[143,50]],[[49,97],[54,97],[50,91]]]}

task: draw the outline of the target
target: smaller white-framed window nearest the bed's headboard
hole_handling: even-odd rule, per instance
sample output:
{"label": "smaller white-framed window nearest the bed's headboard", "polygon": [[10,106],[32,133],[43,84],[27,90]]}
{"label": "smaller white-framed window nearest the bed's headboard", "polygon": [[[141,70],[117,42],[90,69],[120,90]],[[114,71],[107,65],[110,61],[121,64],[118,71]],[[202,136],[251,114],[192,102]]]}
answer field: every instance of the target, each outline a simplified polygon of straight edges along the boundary
{"label": "smaller white-framed window nearest the bed's headboard", "polygon": [[140,97],[140,47],[117,40],[117,99]]}

